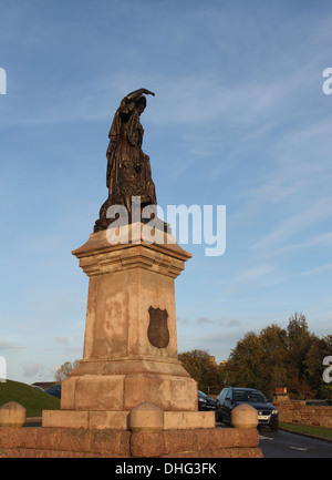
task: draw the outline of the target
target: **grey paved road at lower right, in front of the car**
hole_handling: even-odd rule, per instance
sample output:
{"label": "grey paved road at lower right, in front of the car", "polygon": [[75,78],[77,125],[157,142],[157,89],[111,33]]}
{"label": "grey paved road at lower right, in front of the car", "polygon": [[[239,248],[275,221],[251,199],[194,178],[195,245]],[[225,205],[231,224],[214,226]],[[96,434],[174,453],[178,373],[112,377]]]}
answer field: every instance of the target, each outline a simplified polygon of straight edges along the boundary
{"label": "grey paved road at lower right, in front of the car", "polygon": [[259,430],[259,447],[264,458],[332,458],[332,442],[283,430]]}

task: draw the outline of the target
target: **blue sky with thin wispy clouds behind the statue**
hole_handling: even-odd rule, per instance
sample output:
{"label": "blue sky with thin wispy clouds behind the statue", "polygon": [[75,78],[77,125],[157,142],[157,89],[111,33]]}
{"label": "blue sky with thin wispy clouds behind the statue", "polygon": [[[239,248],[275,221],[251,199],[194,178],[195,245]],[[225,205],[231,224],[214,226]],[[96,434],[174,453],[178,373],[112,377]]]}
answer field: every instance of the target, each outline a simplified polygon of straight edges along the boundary
{"label": "blue sky with thin wispy clouds behind the statue", "polygon": [[92,233],[120,101],[146,88],[158,203],[226,205],[227,248],[176,280],[178,350],[332,320],[330,1],[0,0],[1,331],[8,378],[82,358]]}

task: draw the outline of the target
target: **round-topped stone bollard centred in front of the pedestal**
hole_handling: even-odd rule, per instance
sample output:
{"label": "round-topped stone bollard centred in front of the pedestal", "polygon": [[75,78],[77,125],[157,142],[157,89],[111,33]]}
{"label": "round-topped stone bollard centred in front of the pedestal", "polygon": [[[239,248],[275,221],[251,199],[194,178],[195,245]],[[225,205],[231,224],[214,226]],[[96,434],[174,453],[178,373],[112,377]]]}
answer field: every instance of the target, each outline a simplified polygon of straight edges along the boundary
{"label": "round-topped stone bollard centred in front of the pedestal", "polygon": [[158,432],[164,428],[164,410],[154,404],[139,404],[131,410],[129,430]]}

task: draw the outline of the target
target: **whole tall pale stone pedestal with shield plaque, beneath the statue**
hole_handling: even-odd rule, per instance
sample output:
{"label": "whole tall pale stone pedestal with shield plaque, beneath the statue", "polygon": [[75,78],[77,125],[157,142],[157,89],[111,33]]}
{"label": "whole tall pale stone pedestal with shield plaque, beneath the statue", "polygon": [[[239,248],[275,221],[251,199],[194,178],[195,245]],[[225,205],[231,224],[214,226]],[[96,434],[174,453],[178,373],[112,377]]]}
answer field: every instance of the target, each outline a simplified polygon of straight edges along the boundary
{"label": "whole tall pale stone pedestal with shield plaque, beneath the statue", "polygon": [[164,429],[214,428],[177,359],[174,280],[191,255],[165,232],[151,243],[145,225],[126,228],[94,233],[73,252],[90,277],[84,354],[62,384],[61,410],[43,411],[42,425],[126,430],[129,411],[149,402]]}

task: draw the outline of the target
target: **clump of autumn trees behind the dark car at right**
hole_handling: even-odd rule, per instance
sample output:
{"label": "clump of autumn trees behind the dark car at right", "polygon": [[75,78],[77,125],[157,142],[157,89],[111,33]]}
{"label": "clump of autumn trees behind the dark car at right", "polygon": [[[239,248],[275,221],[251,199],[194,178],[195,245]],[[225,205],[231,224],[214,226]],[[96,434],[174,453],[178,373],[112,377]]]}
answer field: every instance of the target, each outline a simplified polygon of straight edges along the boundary
{"label": "clump of autumn trees behind the dark car at right", "polygon": [[305,316],[295,313],[288,327],[270,325],[260,334],[248,331],[230,351],[220,369],[224,385],[251,387],[272,397],[277,387],[287,387],[295,398],[326,398],[323,358],[332,353],[332,335],[318,338],[309,331]]}

